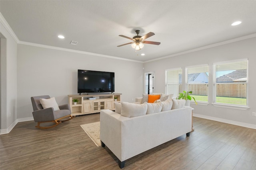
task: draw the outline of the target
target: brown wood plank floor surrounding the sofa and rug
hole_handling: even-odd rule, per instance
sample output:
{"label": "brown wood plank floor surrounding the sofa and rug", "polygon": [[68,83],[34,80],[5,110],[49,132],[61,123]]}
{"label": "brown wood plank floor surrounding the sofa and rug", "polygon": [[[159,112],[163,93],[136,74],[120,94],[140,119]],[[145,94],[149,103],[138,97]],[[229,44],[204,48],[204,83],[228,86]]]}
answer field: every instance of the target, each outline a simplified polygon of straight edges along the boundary
{"label": "brown wood plank floor surrounding the sofa and rug", "polygon": [[[107,148],[96,147],[80,127],[99,113],[77,116],[52,129],[20,122],[0,135],[1,170],[118,170]],[[124,170],[256,170],[256,129],[198,117],[190,137],[182,135],[126,160]]]}

